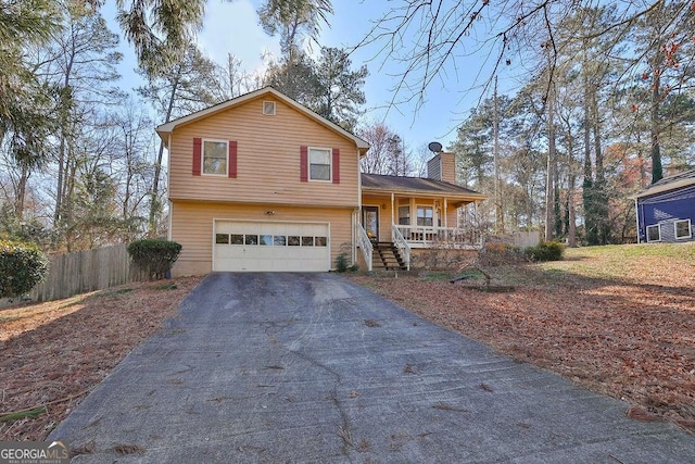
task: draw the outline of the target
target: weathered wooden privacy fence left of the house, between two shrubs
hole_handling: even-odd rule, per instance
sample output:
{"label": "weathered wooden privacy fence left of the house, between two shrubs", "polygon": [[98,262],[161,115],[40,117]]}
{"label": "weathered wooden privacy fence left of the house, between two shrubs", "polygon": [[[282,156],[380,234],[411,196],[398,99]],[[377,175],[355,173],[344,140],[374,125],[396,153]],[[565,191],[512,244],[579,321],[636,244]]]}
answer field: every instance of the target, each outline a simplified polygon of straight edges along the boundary
{"label": "weathered wooden privacy fence left of the house, between two shrubs", "polygon": [[29,292],[29,298],[59,300],[139,280],[138,274],[126,244],[58,254],[50,259],[46,279]]}

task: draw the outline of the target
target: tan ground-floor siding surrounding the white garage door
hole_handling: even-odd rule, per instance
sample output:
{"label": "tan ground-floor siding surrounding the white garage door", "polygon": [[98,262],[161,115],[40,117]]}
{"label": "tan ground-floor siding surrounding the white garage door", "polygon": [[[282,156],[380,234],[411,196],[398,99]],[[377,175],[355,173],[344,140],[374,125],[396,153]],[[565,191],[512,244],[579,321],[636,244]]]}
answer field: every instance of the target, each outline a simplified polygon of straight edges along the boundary
{"label": "tan ground-floor siding surrounding the white garage door", "polygon": [[[275,214],[267,215],[266,211]],[[342,251],[352,259],[352,209],[301,208],[278,204],[228,204],[175,201],[172,203],[170,239],[181,243],[173,275],[203,275],[212,271],[213,220],[319,222],[330,224],[331,263]]]}

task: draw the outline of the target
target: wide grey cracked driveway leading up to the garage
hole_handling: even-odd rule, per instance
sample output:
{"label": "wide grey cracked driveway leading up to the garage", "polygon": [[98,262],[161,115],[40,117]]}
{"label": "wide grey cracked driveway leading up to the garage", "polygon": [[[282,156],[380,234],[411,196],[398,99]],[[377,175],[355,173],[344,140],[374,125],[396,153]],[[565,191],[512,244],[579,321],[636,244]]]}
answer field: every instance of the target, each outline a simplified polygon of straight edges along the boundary
{"label": "wide grey cracked driveway leading up to the garage", "polygon": [[338,275],[212,274],[180,311],[51,434],[73,462],[695,462],[678,427]]}

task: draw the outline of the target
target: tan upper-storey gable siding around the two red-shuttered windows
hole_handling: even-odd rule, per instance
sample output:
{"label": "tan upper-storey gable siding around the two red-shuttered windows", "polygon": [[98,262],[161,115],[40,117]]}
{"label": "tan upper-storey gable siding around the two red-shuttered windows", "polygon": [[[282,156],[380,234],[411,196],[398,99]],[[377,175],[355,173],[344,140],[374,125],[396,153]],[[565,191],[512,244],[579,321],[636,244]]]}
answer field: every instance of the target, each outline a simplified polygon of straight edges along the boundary
{"label": "tan upper-storey gable siding around the two red-shuttered windows", "polygon": [[[276,101],[276,115],[262,114],[264,100]],[[236,140],[237,178],[193,176],[195,137]],[[300,181],[301,146],[340,149],[340,184]],[[177,128],[169,150],[172,200],[330,208],[356,208],[359,203],[359,163],[354,141],[269,95]]]}

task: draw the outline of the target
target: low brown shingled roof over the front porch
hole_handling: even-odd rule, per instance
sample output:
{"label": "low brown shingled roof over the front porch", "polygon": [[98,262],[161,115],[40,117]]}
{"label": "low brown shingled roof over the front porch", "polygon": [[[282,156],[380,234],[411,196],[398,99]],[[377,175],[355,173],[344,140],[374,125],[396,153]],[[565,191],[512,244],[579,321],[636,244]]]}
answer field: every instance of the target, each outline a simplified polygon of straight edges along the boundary
{"label": "low brown shingled roof over the front porch", "polygon": [[363,190],[380,190],[402,193],[445,195],[469,197],[484,200],[488,197],[475,190],[467,189],[442,180],[427,177],[387,176],[381,174],[362,174]]}

